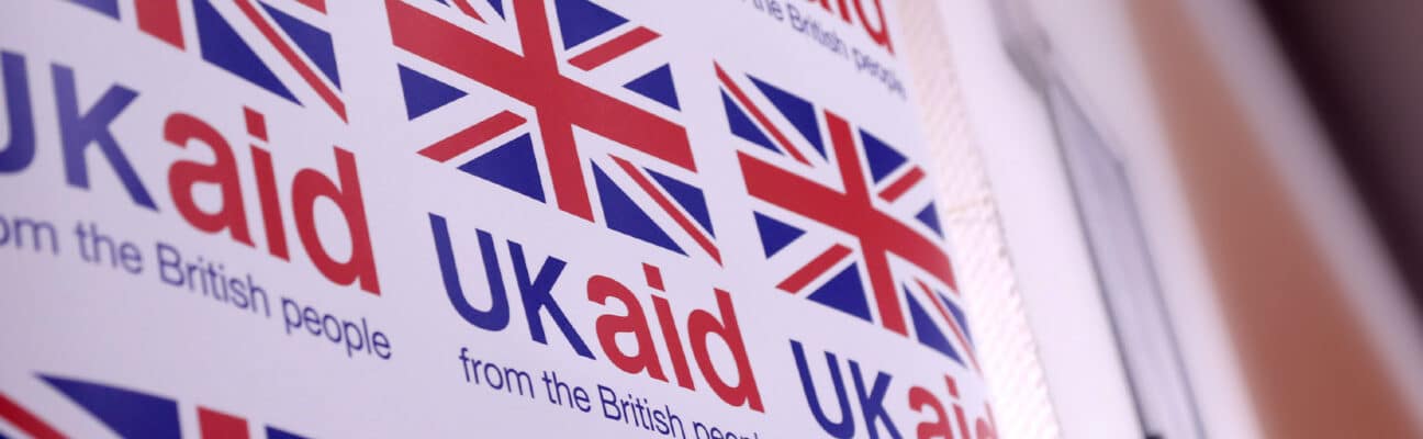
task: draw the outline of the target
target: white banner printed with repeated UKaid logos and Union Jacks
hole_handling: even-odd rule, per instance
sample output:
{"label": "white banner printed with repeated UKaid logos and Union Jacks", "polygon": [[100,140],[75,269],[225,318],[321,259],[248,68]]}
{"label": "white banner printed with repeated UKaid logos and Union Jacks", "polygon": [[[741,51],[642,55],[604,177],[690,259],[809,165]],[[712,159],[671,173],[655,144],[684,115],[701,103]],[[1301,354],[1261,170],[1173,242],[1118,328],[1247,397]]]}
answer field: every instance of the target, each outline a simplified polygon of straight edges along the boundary
{"label": "white banner printed with repeated UKaid logos and Union Jacks", "polygon": [[879,0],[0,18],[0,436],[996,438]]}

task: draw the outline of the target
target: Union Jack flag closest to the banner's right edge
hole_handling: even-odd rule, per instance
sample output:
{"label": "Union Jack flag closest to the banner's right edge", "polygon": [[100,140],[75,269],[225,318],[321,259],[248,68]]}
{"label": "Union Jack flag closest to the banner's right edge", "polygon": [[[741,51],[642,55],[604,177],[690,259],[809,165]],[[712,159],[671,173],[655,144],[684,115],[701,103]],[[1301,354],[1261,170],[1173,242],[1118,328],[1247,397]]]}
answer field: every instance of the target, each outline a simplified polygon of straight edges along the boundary
{"label": "Union Jack flag closest to the banner's right edge", "polygon": [[784,88],[720,64],[716,74],[746,189],[760,200],[761,250],[771,270],[788,273],[777,288],[905,337],[912,330],[976,369],[924,169]]}

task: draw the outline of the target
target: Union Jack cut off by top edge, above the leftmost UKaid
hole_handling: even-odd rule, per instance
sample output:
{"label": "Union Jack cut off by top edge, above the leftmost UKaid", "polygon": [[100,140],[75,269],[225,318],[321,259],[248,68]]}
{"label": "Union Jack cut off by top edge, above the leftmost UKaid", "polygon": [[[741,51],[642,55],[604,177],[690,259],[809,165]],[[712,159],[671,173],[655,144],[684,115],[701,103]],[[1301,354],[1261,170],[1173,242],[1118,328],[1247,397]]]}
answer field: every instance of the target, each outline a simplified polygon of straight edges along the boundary
{"label": "Union Jack cut off by top edge, above the leftmost UKaid", "polygon": [[[181,9],[178,1],[189,1]],[[342,77],[326,17],[326,0],[70,0],[293,104],[316,99],[346,119]],[[122,11],[131,10],[132,18]],[[184,10],[191,11],[185,16]],[[191,23],[191,24],[189,24]],[[196,27],[196,47],[184,37]],[[276,68],[273,68],[273,65]],[[297,87],[289,87],[297,85]]]}

